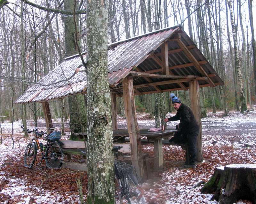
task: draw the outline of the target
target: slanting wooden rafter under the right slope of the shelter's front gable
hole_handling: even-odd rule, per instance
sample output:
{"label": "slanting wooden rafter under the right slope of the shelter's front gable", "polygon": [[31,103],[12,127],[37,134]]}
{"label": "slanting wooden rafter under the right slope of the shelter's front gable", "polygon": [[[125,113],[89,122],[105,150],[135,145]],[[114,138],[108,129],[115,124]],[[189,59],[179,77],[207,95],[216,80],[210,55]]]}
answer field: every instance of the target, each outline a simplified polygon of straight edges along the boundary
{"label": "slanting wooden rafter under the right slope of the shelter's front gable", "polygon": [[212,79],[207,75],[207,73],[204,71],[204,69],[201,67],[201,65],[198,63],[194,55],[188,50],[187,46],[183,43],[181,39],[177,39],[176,41],[180,48],[184,51],[184,53],[187,55],[188,59],[191,60],[195,64],[196,69],[203,75],[208,78],[208,83],[211,84],[212,87],[215,87],[214,83],[212,82]]}

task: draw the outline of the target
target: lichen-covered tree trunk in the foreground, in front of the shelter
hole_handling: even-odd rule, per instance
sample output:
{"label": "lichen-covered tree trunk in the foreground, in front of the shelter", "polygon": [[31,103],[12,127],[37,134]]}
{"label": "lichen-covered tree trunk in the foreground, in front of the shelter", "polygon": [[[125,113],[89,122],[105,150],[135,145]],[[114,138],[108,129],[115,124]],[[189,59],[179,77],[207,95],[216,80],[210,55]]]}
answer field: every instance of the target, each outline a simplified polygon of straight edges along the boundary
{"label": "lichen-covered tree trunk in the foreground, in front of the shelter", "polygon": [[108,1],[87,5],[87,203],[114,203],[111,97],[108,85]]}

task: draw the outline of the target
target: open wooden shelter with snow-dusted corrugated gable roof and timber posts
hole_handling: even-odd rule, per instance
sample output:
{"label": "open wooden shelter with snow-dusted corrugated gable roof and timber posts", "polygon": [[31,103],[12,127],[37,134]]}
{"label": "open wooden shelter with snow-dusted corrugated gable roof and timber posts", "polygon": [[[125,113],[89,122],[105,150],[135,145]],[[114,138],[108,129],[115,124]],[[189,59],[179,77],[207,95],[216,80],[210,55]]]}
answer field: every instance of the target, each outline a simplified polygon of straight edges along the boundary
{"label": "open wooden shelter with snow-dusted corrugated gable roof and timber posts", "polygon": [[[82,54],[86,59],[86,52]],[[46,126],[51,127],[48,100],[86,93],[86,74],[83,71],[79,55],[67,57],[16,103],[42,103]],[[199,87],[224,83],[180,25],[109,44],[108,77],[113,129],[117,129],[116,97],[123,96],[133,160],[138,161],[141,155],[134,95],[188,89],[191,109],[200,124],[197,160],[203,160]]]}

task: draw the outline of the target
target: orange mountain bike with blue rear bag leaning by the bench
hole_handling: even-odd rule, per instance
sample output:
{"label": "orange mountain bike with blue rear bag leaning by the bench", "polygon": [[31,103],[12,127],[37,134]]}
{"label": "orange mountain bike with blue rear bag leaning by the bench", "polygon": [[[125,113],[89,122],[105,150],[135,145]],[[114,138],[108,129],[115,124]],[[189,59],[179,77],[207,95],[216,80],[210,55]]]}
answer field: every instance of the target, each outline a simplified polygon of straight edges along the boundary
{"label": "orange mountain bike with blue rear bag leaning by the bench", "polygon": [[[24,129],[23,126],[21,126],[21,128],[23,131],[35,134],[34,138],[26,147],[24,154],[24,165],[29,169],[33,167],[36,161],[37,150],[39,149],[42,156],[39,165],[41,165],[44,159],[48,168],[59,169],[64,158],[63,150],[60,146],[60,142],[58,142],[61,137],[60,132],[54,131],[48,135],[43,131],[38,132],[37,127],[35,127],[33,130]],[[48,129],[53,131],[55,128]],[[39,143],[39,138],[45,140],[46,144],[43,145],[43,143]]]}

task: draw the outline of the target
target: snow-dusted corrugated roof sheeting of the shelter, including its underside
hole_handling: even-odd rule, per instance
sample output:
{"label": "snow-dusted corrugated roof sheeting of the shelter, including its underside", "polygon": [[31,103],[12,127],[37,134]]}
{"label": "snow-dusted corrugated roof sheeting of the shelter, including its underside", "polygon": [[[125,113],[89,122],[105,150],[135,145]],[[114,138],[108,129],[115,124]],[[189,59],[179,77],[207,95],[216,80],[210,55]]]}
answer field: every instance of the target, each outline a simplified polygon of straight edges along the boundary
{"label": "snow-dusted corrugated roof sheeting of the shelter, including its underside", "polygon": [[[180,30],[180,31],[179,31]],[[148,58],[149,54],[160,53],[161,43],[172,36],[176,31],[182,33],[183,41],[188,45],[194,45],[192,40],[182,30],[180,26],[165,28],[152,33],[137,36],[128,40],[109,44],[108,50],[108,77],[109,84],[113,87],[122,82],[134,67],[140,68],[142,71],[159,69],[160,66],[152,58]],[[184,40],[186,39],[186,40]],[[168,50],[177,49],[179,46],[175,41],[168,41]],[[192,49],[191,53],[197,60],[206,60],[204,55],[197,49]],[[83,53],[86,60],[86,53]],[[161,57],[161,56],[160,56]],[[161,61],[161,58],[159,58]],[[169,54],[169,66],[184,64],[190,62],[184,52]],[[80,67],[80,71],[74,75],[76,69]],[[212,66],[207,64],[202,65],[207,73],[216,73]],[[175,75],[200,75],[194,67],[185,67],[171,70]],[[161,72],[159,72],[161,74]],[[74,76],[73,76],[74,75]],[[67,80],[68,79],[68,80]],[[214,83],[222,83],[222,80],[217,75],[212,77]],[[152,82],[163,81],[163,79],[152,78]],[[141,77],[140,80],[134,80],[134,84],[145,84],[148,80]],[[207,83],[207,82],[205,82]],[[188,86],[188,83],[183,83]],[[204,82],[199,82],[204,85]],[[179,89],[178,84],[166,84],[159,86],[161,89]],[[37,84],[30,87],[15,103],[29,103],[63,98],[73,93],[81,93],[86,89],[86,72],[82,66],[82,61],[79,55],[70,56],[64,59],[55,69],[44,76]],[[138,88],[140,92],[156,91],[152,87]],[[122,94],[122,90],[120,90]]]}

